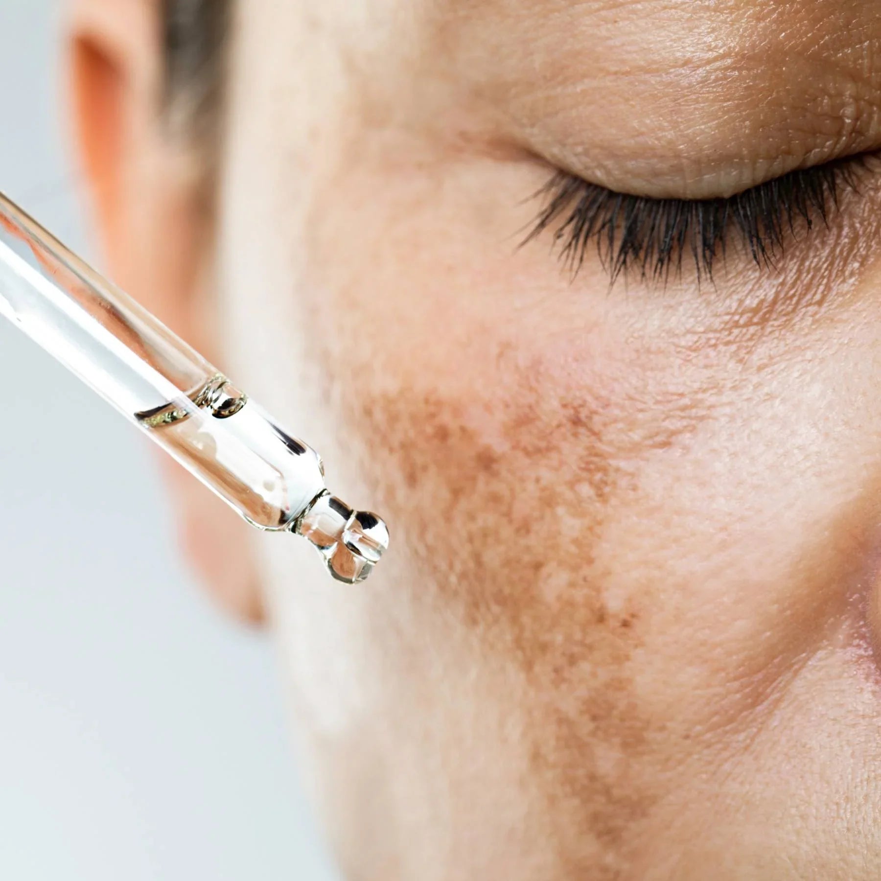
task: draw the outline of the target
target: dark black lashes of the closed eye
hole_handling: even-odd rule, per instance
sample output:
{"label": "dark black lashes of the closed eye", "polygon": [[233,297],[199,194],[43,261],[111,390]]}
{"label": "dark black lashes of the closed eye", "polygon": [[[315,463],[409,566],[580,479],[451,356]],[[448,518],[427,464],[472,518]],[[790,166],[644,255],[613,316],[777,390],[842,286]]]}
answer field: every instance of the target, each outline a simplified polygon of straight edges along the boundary
{"label": "dark black lashes of the closed eye", "polygon": [[729,235],[737,236],[757,265],[773,266],[796,225],[811,229],[817,218],[828,223],[841,189],[857,189],[857,173],[864,167],[863,156],[839,159],[796,169],[729,198],[702,200],[630,196],[560,171],[537,192],[544,208],[522,243],[556,226],[554,243],[573,277],[594,241],[612,282],[633,270],[643,279],[666,281],[671,269],[682,270],[688,254],[699,281],[712,280]]}

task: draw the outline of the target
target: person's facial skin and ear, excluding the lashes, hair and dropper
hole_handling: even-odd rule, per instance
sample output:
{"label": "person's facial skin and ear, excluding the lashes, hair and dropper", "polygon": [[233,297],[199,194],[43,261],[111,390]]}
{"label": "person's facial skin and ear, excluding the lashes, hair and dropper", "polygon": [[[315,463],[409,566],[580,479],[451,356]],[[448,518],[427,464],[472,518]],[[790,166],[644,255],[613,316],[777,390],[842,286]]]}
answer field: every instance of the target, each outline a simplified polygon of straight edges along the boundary
{"label": "person's facial skin and ear, excluding the lashes, hair and dropper", "polygon": [[877,171],[712,282],[517,247],[558,167],[729,196],[881,148],[874,4],[248,0],[210,160],[159,4],[73,8],[115,278],[392,530],[342,589],[173,476],[346,877],[877,877]]}

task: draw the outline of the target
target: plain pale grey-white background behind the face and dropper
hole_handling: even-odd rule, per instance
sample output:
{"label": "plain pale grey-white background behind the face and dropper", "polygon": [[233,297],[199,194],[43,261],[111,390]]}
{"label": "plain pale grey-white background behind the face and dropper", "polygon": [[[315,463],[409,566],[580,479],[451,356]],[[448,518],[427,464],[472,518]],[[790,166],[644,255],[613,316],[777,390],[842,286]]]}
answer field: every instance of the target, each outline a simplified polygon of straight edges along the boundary
{"label": "plain pale grey-white background behind the face and dropper", "polygon": [[[88,253],[61,6],[0,0],[0,189]],[[0,878],[328,881],[270,645],[189,576],[145,443],[0,319]]]}

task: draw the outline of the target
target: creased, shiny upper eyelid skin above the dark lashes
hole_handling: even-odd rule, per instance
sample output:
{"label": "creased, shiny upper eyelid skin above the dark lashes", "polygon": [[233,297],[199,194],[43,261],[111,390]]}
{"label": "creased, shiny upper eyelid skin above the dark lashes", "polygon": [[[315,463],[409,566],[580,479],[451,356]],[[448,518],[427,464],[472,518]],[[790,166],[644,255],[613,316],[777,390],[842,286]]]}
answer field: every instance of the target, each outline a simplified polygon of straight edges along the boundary
{"label": "creased, shiny upper eyelid skin above the dark lashes", "polygon": [[441,50],[463,93],[554,166],[645,196],[729,196],[881,145],[872,5],[515,0],[447,21]]}

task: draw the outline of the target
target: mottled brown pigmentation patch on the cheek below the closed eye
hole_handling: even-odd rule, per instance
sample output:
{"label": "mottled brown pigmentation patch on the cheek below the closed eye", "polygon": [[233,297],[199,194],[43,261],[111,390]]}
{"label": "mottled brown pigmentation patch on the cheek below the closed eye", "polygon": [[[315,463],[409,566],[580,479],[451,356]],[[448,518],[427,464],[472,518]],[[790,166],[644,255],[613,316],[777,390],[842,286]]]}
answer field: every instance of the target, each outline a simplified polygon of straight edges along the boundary
{"label": "mottled brown pigmentation patch on the cheek below the closed eye", "polygon": [[607,393],[596,378],[560,391],[529,366],[492,398],[402,390],[358,406],[384,448],[375,472],[400,475],[377,492],[430,574],[420,589],[436,586],[433,599],[527,686],[529,776],[559,818],[553,847],[570,877],[614,877],[656,797],[640,782],[653,722],[633,689],[652,598],[611,612],[597,551],[619,496],[638,488],[640,457],[686,443],[700,408],[647,395],[634,374]]}

